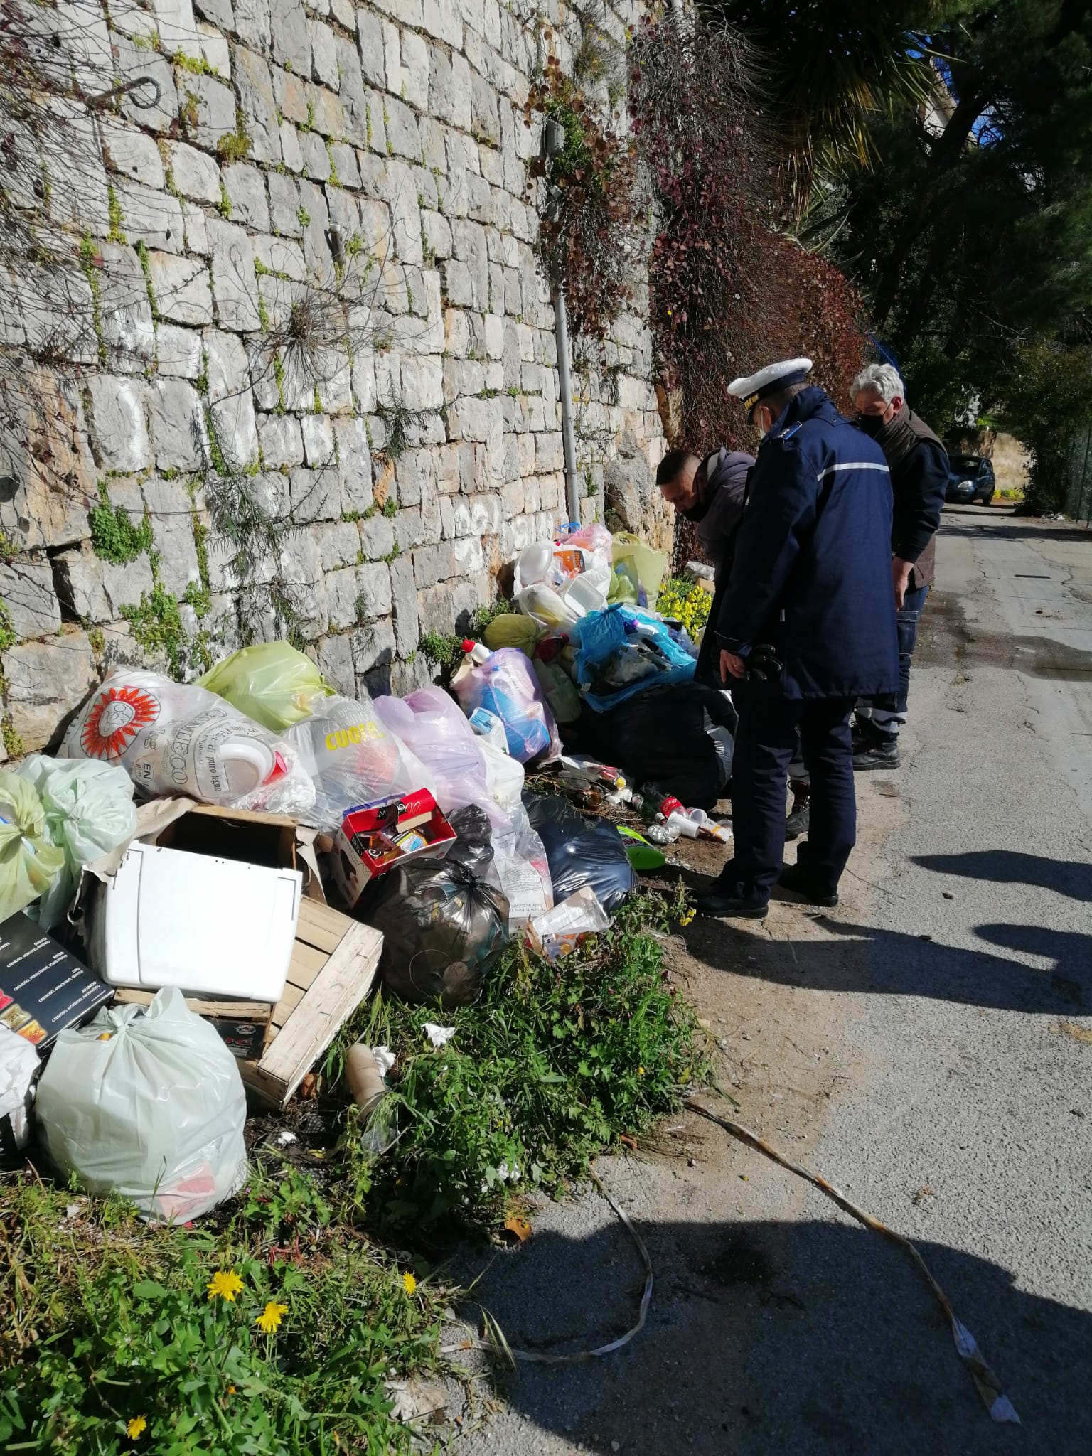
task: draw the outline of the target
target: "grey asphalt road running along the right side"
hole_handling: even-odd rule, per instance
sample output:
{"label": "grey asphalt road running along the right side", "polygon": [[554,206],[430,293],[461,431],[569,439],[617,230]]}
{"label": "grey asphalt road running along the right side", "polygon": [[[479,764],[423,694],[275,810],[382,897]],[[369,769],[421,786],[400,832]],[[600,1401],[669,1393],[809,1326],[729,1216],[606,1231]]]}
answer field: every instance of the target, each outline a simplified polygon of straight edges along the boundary
{"label": "grey asphalt road running along the right side", "polygon": [[[986,1414],[903,1251],[683,1118],[677,1149],[600,1162],[657,1270],[648,1326],[499,1406],[482,1385],[454,1450],[1092,1452],[1092,537],[949,510],[938,559],[842,906],[699,920],[678,965],[741,1117],[916,1241],[1022,1424]],[[639,1287],[585,1195],[476,1296],[571,1350]]]}

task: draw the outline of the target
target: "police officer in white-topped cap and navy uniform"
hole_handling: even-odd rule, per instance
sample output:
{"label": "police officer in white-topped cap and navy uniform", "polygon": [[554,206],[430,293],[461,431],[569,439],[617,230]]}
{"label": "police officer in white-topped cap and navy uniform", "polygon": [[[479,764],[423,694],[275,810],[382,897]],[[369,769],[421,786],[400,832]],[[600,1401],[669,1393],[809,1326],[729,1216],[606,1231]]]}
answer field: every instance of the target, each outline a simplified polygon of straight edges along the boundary
{"label": "police officer in white-topped cap and navy uniform", "polygon": [[[764,919],[775,884],[785,898],[837,904],[856,839],[850,713],[858,697],[898,683],[890,472],[882,450],[807,383],[810,370],[811,360],[785,360],[729,386],[761,444],[716,620],[740,712],[735,853],[699,897],[703,914]],[[785,866],[798,729],[811,824]]]}

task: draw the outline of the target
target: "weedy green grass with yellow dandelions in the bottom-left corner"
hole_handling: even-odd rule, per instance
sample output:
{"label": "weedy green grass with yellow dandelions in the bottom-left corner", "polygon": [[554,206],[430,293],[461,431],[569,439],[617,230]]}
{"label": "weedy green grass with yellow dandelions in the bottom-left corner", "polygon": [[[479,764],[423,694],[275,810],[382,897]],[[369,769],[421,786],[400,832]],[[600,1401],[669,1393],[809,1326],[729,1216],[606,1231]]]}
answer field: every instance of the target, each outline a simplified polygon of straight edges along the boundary
{"label": "weedy green grass with yellow dandelions in the bottom-left corner", "polygon": [[[306,1174],[256,1171],[217,1230],[151,1229],[118,1200],[19,1172],[0,1182],[0,1449],[409,1450],[386,1380],[435,1363],[437,1296],[332,1227]],[[218,1270],[239,1275],[234,1300],[210,1297]],[[269,1334],[266,1303],[285,1306]]]}

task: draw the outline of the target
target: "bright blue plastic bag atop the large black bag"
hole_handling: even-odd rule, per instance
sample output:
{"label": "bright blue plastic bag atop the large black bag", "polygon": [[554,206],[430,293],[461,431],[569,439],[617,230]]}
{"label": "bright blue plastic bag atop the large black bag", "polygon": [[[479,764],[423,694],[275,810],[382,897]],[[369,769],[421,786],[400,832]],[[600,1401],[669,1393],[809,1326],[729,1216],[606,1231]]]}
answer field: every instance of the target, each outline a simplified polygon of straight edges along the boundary
{"label": "bright blue plastic bag atop the large black bag", "polygon": [[689,683],[696,660],[651,612],[616,601],[579,620],[577,686],[584,702],[606,712],[635,693]]}

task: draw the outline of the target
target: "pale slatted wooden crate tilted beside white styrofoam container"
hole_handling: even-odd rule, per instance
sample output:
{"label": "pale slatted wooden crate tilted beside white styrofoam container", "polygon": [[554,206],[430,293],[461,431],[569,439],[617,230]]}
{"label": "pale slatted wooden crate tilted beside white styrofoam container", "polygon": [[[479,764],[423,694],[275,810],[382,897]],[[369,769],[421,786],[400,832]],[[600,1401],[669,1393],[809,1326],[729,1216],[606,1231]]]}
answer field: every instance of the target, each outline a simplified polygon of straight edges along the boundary
{"label": "pale slatted wooden crate tilted beside white styrofoam container", "polygon": [[259,1061],[240,1061],[248,1091],[284,1107],[371,990],[383,936],[316,900],[300,901],[284,996],[272,1009]]}

